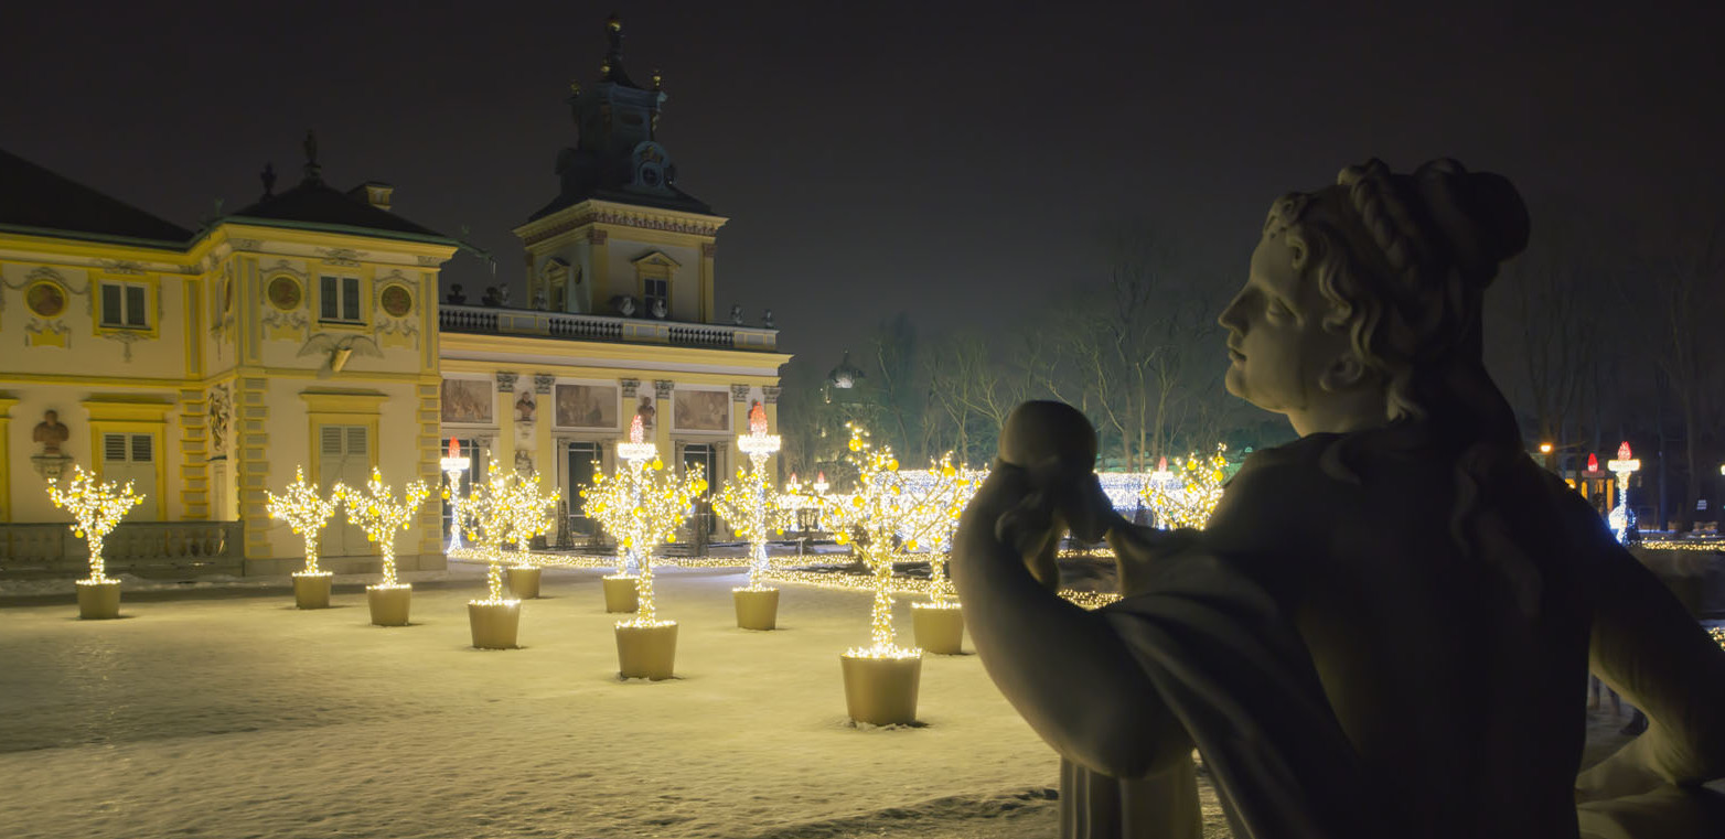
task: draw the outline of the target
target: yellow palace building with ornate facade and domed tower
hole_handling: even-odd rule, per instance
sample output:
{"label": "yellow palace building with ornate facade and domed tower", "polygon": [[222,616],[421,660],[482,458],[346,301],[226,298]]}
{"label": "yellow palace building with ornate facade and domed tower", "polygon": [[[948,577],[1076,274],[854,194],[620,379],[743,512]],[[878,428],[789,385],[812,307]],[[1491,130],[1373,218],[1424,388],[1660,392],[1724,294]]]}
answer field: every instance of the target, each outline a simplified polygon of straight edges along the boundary
{"label": "yellow palace building with ornate facade and domed tower", "polygon": [[[81,541],[47,498],[78,465],[148,498],[109,539],[116,570],[285,574],[302,544],[266,491],[304,469],[328,488],[443,481],[474,465],[536,472],[590,532],[578,486],[614,465],[640,415],[668,463],[723,479],[761,401],[776,431],[768,322],[714,312],[726,219],[674,186],[652,131],[664,93],[607,62],[569,96],[578,145],[557,198],[516,229],[526,300],[440,300],[461,243],[392,210],[392,188],[304,179],[186,231],[0,152],[0,574],[76,572]],[[466,481],[466,479],[464,479]],[[442,569],[447,512],[397,539],[404,570]],[[331,520],[338,572],[376,546]]]}

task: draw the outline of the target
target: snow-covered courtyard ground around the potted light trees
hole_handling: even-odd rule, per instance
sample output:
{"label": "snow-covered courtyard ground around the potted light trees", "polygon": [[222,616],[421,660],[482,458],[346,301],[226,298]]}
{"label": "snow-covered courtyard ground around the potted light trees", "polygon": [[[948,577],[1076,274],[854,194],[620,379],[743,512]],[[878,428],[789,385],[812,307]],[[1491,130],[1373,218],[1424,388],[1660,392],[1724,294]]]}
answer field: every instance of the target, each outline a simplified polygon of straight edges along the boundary
{"label": "snow-covered courtyard ground around the potted light trees", "polygon": [[398,629],[369,624],[369,577],[321,612],[281,581],[138,584],[105,622],[10,586],[0,836],[1056,836],[1054,755],[976,656],[925,658],[923,725],[857,729],[837,656],[868,594],[788,586],[781,629],[747,632],[740,570],[678,569],[678,679],[619,681],[602,574],[547,569],[509,651],[469,646],[464,563],[421,575]]}

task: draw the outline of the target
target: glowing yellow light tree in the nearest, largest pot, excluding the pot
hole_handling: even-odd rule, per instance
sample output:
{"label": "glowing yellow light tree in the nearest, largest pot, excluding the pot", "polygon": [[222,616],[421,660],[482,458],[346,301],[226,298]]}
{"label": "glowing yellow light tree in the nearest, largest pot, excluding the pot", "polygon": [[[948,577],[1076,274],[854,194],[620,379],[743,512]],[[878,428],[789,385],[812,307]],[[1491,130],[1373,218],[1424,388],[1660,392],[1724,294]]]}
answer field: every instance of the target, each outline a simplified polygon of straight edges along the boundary
{"label": "glowing yellow light tree in the nearest, largest pot, excluding the pot", "polygon": [[856,550],[875,575],[875,606],[869,613],[869,646],[847,651],[852,658],[914,658],[916,649],[894,643],[892,563],[925,544],[935,551],[950,538],[952,515],[975,493],[975,482],[957,474],[950,453],[933,470],[926,486],[911,486],[899,472],[892,448],[875,448],[869,434],[850,426],[845,460],[856,469],[857,486],[850,494],[819,494],[821,517],[837,541],[857,536]]}

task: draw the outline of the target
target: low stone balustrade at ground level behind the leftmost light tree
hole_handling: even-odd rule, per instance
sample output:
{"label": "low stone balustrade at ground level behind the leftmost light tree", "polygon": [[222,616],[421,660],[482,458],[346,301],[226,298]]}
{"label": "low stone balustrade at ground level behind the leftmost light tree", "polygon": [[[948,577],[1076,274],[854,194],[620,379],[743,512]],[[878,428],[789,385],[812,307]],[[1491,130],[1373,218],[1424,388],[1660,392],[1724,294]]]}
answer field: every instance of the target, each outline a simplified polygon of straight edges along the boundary
{"label": "low stone balustrade at ground level behind the leftmost light tree", "polygon": [[[240,522],[124,522],[107,534],[107,574],[176,577],[242,570]],[[83,577],[90,544],[66,524],[0,524],[0,577]]]}

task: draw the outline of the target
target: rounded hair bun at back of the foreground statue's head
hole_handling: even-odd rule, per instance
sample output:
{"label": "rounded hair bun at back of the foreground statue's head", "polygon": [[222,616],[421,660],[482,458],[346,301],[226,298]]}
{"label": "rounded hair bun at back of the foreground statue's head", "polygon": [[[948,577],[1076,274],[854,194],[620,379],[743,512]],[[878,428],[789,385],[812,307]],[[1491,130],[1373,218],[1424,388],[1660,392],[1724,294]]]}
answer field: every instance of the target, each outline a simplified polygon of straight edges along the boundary
{"label": "rounded hair bun at back of the foreground statue's head", "polygon": [[1497,265],[1527,248],[1527,203],[1508,177],[1468,172],[1454,160],[1439,158],[1421,165],[1413,183],[1437,233],[1454,252],[1454,267],[1468,281],[1490,284]]}

